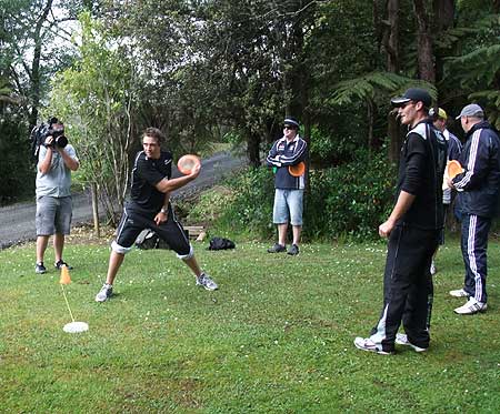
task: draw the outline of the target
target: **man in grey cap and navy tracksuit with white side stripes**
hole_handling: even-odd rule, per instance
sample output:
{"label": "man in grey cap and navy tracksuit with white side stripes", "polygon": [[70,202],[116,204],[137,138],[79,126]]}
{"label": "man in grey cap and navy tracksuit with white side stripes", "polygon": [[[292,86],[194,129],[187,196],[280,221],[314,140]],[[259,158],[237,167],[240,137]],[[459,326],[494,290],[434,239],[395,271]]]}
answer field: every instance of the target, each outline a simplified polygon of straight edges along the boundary
{"label": "man in grey cap and navy tracksuit with white side stripes", "polygon": [[454,310],[470,315],[487,310],[487,248],[491,219],[496,214],[500,183],[500,140],[484,121],[481,107],[471,103],[462,109],[460,119],[466,132],[460,164],[463,172],[449,181],[458,190],[462,213],[462,256],[466,264],[463,289],[450,291],[468,302]]}

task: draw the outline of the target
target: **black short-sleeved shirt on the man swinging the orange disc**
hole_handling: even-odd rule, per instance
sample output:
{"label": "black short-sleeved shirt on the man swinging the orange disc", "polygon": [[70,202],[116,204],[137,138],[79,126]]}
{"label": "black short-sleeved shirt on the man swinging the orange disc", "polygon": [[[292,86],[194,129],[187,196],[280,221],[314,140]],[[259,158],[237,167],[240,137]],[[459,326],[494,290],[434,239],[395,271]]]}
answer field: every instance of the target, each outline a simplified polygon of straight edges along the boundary
{"label": "black short-sleeved shirt on the man swinging the orange disc", "polygon": [[157,185],[164,178],[172,175],[172,154],[161,151],[158,160],[146,156],[144,151],[138,152],[132,169],[131,199],[139,208],[157,213],[163,205],[164,193]]}

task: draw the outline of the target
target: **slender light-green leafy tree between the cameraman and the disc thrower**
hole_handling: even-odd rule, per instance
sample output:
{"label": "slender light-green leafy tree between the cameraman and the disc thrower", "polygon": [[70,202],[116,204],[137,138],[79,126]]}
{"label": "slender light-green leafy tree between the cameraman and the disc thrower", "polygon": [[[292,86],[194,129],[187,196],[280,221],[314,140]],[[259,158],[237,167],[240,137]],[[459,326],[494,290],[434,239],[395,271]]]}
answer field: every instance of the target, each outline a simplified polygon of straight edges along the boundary
{"label": "slender light-green leafy tree between the cameraman and the disc thrower", "polygon": [[68,134],[84,160],[80,181],[96,185],[112,220],[123,206],[129,160],[140,148],[137,70],[123,57],[119,39],[101,22],[82,13],[80,23],[80,59],[57,77],[49,111],[67,123]]}

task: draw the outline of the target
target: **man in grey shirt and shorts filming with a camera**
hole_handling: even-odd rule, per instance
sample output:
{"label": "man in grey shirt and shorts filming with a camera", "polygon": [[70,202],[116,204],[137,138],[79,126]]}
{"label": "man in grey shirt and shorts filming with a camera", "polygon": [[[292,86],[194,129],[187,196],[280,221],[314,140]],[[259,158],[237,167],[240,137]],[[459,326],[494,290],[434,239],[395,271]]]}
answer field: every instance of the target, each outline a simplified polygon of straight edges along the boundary
{"label": "man in grey shirt and shorts filming with a camera", "polygon": [[56,269],[68,266],[62,260],[62,250],[64,235],[70,233],[71,226],[71,171],[77,171],[80,164],[74,148],[68,144],[63,132],[62,123],[52,118],[38,154],[34,272],[39,274],[47,272],[43,255],[51,234],[53,234]]}

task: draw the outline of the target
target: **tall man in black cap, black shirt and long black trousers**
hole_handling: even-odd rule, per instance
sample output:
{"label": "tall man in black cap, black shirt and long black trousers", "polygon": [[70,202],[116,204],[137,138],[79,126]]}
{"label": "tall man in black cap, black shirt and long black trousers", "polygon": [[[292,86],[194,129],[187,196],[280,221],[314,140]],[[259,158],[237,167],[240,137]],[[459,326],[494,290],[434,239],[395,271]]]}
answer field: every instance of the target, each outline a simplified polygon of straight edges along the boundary
{"label": "tall man in black cap, black shirt and long black trousers", "polygon": [[427,330],[430,264],[443,228],[442,176],[447,159],[444,137],[428,119],[431,97],[411,88],[396,98],[401,122],[409,127],[401,149],[397,202],[379,234],[389,238],[383,281],[383,309],[371,336],[357,337],[363,351],[390,354],[402,322],[417,352],[429,347]]}

